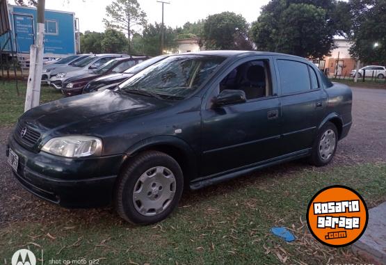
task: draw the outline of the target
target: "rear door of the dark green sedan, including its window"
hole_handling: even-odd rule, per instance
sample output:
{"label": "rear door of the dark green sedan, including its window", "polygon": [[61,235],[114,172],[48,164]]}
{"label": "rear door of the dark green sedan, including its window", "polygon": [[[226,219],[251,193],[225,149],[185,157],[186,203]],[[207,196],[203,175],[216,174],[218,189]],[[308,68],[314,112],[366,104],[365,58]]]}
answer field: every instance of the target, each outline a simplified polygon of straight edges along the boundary
{"label": "rear door of the dark green sedan, including its window", "polygon": [[291,154],[312,147],[328,97],[316,67],[289,57],[278,57],[275,63],[282,105],[282,152]]}

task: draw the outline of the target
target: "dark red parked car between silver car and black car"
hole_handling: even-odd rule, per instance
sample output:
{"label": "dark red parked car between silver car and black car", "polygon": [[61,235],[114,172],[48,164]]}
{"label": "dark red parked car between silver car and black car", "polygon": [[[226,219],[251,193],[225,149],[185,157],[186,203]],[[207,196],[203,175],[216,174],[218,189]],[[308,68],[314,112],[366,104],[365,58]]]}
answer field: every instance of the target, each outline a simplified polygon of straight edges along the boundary
{"label": "dark red parked car between silver car and black car", "polygon": [[130,67],[133,67],[138,63],[142,63],[146,59],[147,57],[145,56],[115,58],[111,61],[108,61],[96,70],[89,70],[89,72],[86,74],[81,74],[77,77],[70,77],[69,79],[65,79],[65,81],[63,81],[62,93],[66,97],[80,95],[84,86],[86,86],[89,81],[98,77],[104,77],[111,73],[124,72]]}

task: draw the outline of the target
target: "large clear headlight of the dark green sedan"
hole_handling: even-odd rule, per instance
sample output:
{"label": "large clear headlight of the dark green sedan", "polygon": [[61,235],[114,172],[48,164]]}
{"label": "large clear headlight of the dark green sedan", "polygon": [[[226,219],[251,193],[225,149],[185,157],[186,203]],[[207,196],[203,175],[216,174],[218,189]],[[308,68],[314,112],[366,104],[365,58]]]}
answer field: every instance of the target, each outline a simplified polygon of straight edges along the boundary
{"label": "large clear headlight of the dark green sedan", "polygon": [[42,151],[56,156],[100,156],[102,140],[93,136],[62,136],[49,140]]}

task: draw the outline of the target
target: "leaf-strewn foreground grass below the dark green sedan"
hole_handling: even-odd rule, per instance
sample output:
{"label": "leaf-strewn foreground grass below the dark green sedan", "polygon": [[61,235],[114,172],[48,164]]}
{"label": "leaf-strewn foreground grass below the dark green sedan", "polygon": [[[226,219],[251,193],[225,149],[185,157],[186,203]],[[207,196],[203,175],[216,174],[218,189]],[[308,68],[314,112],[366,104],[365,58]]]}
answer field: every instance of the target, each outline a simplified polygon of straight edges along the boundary
{"label": "leaf-strewn foreground grass below the dark green sedan", "polygon": [[[157,225],[129,225],[109,209],[96,216],[63,214],[45,223],[13,223],[0,229],[0,260],[10,264],[15,250],[30,248],[35,254],[44,250],[45,264],[49,259],[99,259],[99,264],[368,263],[349,248],[321,245],[307,230],[309,200],[332,184],[355,188],[372,207],[386,199],[386,163],[277,166],[188,192],[179,209]],[[274,226],[289,227],[296,241],[273,236]]]}

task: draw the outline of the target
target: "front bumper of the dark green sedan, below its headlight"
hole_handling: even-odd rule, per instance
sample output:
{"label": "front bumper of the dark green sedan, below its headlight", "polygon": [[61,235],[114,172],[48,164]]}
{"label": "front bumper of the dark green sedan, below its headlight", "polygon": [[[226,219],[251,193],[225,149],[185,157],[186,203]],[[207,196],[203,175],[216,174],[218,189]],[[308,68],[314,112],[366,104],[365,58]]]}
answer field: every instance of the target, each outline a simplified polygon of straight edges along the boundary
{"label": "front bumper of the dark green sedan, below its headlight", "polygon": [[13,136],[9,148],[19,156],[15,178],[34,195],[67,208],[111,204],[122,155],[68,159],[45,152],[30,152]]}

